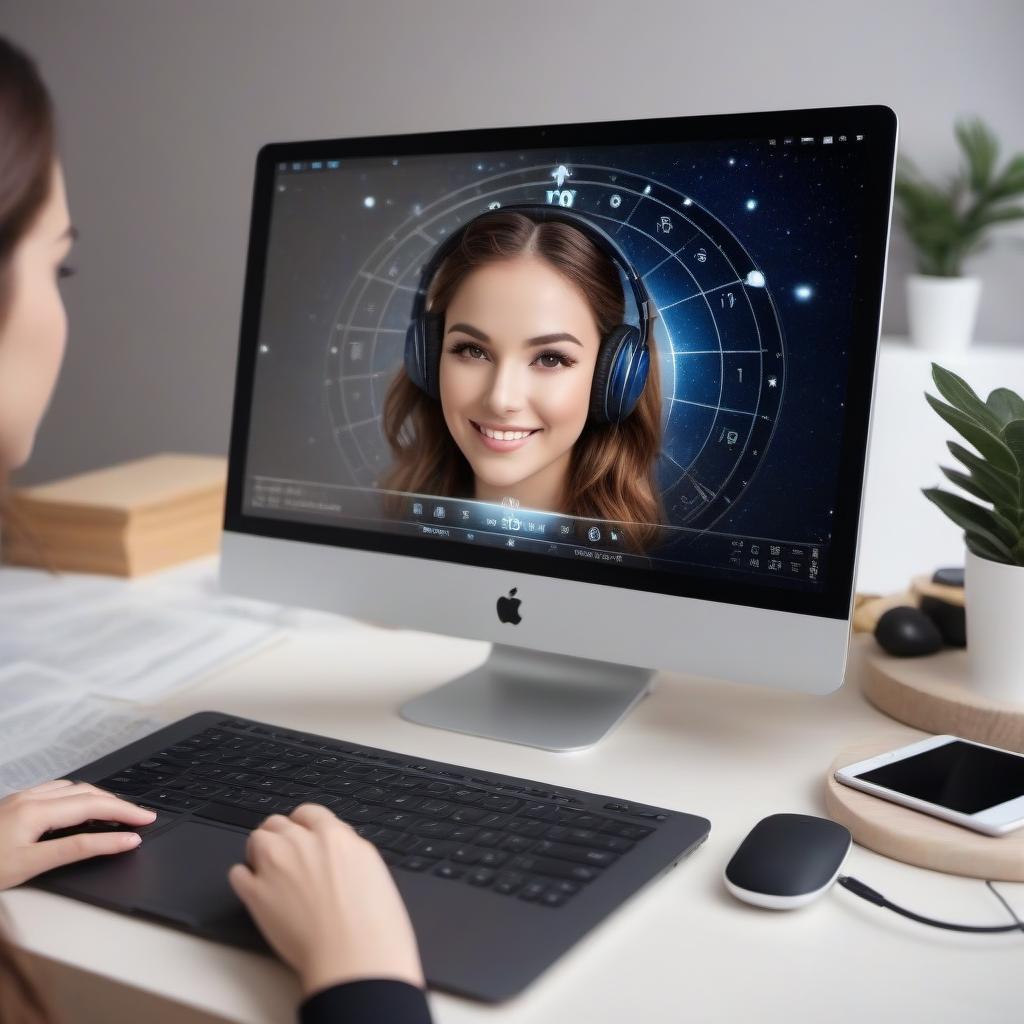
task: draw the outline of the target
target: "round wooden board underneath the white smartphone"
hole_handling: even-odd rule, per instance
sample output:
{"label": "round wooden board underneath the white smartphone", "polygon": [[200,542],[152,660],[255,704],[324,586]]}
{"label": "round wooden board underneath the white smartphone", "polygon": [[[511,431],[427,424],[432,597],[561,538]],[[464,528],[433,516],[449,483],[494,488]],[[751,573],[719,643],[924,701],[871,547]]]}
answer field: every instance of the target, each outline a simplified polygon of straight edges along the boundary
{"label": "round wooden board underneath the white smartphone", "polygon": [[853,790],[834,777],[837,768],[924,738],[920,732],[903,730],[846,748],[825,780],[831,819],[846,825],[861,846],[906,864],[993,882],[1024,882],[1024,828],[1007,836],[983,836]]}

